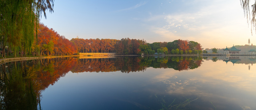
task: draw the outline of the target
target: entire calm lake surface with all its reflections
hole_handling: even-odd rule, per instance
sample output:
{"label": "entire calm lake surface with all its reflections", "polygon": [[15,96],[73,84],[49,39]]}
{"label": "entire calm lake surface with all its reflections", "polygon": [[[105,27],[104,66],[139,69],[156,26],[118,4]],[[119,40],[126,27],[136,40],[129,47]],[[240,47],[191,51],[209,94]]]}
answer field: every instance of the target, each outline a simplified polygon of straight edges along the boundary
{"label": "entire calm lake surface with all its reflections", "polygon": [[255,110],[256,57],[62,57],[0,65],[2,109]]}

